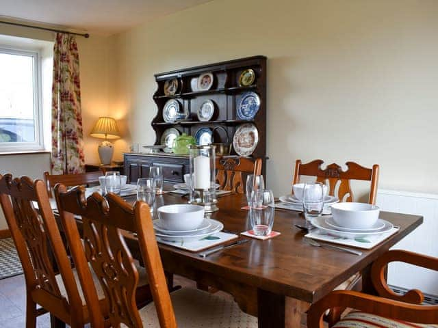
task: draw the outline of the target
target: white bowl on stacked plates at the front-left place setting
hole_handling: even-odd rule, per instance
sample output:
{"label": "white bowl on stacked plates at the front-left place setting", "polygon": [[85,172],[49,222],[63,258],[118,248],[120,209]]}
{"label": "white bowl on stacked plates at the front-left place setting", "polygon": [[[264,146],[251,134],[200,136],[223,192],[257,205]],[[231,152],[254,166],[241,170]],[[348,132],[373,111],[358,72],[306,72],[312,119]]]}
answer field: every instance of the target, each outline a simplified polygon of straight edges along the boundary
{"label": "white bowl on stacked plates at the front-left place setting", "polygon": [[204,208],[190,204],[166,205],[158,208],[158,217],[166,230],[194,230],[204,221]]}

